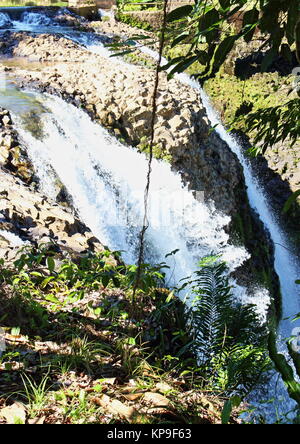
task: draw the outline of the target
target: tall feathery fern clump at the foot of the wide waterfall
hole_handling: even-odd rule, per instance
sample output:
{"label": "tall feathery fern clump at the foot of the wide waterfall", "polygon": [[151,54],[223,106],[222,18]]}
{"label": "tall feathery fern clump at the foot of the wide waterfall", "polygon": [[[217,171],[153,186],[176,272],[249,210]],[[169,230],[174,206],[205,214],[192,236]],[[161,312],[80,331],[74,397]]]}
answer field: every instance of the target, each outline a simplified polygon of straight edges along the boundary
{"label": "tall feathery fern clump at the foot of the wide waterfall", "polygon": [[204,378],[226,393],[251,390],[269,365],[266,328],[253,306],[234,302],[223,263],[206,261],[195,275],[186,284],[192,285],[192,348]]}

